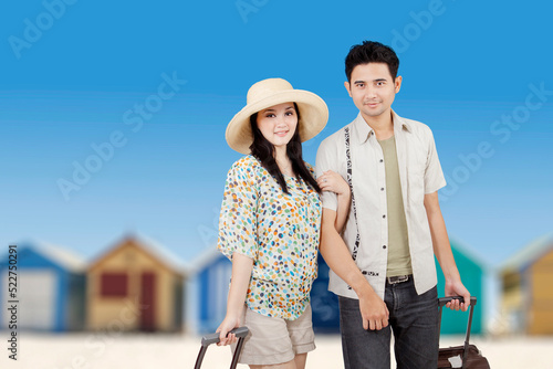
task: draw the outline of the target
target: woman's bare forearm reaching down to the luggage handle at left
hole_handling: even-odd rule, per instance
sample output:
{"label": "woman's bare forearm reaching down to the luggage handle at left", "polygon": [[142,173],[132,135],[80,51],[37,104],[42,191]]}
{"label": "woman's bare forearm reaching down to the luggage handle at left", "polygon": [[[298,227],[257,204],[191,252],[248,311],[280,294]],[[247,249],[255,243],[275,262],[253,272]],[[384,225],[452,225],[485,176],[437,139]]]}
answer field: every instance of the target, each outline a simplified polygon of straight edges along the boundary
{"label": "woman's bare forearm reaching down to the luggage handle at left", "polygon": [[219,331],[219,346],[226,346],[237,341],[234,335],[227,334],[240,326],[240,316],[246,302],[248,286],[250,285],[253,260],[250,257],[233,253],[232,254],[232,277],[230,280],[229,298],[227,302],[227,316],[222,320],[217,331]]}

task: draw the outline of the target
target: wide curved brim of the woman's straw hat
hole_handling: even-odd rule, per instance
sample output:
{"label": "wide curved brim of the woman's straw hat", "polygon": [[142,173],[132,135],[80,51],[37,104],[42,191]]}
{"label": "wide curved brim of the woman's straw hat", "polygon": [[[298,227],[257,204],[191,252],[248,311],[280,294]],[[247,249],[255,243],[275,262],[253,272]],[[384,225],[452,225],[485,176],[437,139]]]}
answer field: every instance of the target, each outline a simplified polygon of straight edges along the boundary
{"label": "wide curved brim of the woman's straw hat", "polygon": [[268,107],[283,103],[298,104],[300,110],[298,126],[302,143],[319,135],[328,122],[328,107],[321,97],[303,89],[283,91],[247,105],[234,115],[227,126],[225,134],[229,146],[238,152],[250,154],[250,146],[253,143],[250,116]]}

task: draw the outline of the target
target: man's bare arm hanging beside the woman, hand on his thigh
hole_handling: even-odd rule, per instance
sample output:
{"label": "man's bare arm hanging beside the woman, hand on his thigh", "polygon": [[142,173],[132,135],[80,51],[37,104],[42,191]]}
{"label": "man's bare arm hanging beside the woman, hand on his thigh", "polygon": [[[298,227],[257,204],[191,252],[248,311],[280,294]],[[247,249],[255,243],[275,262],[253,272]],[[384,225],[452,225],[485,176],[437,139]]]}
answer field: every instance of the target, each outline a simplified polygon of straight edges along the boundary
{"label": "man's bare arm hanging beside the woman, hand on his thigh", "polygon": [[344,240],[336,231],[335,220],[334,210],[323,209],[321,254],[328,267],[357,294],[363,328],[379,330],[388,325],[388,308],[355,264]]}

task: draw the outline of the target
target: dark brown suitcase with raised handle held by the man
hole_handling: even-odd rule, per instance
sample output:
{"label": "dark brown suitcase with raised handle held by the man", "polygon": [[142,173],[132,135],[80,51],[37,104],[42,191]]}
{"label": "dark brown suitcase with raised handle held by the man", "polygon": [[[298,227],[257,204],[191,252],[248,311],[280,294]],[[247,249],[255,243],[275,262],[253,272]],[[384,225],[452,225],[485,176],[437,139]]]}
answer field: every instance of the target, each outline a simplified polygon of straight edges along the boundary
{"label": "dark brown suitcase with raised handle held by the man", "polygon": [[[441,328],[441,309],[452,299],[463,301],[462,297],[441,297],[438,299],[439,305],[439,327]],[[490,369],[488,359],[486,359],[480,350],[474,345],[469,345],[470,328],[472,326],[472,308],[477,304],[476,297],[470,297],[469,323],[467,325],[467,336],[465,337],[463,346],[453,346],[440,348],[438,355],[438,369],[442,368],[462,368],[462,369]]]}

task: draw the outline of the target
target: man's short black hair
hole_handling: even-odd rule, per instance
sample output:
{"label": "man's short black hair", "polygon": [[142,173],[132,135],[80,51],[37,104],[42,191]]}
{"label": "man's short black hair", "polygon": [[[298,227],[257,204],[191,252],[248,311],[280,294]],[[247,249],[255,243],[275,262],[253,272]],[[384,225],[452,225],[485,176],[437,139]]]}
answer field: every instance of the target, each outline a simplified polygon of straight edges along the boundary
{"label": "man's short black hair", "polygon": [[392,78],[396,81],[399,59],[395,51],[376,41],[363,41],[363,44],[353,45],[345,60],[347,82],[352,80],[352,71],[359,64],[384,63],[388,65]]}

